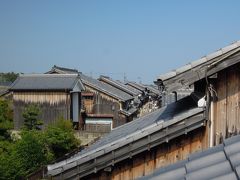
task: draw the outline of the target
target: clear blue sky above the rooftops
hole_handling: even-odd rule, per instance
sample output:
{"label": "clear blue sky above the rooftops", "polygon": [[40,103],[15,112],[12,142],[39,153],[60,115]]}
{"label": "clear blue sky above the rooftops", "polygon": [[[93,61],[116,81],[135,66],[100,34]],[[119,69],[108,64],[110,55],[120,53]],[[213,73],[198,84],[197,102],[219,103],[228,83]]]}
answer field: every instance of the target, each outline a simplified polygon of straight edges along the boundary
{"label": "clear blue sky above the rooftops", "polygon": [[240,1],[0,0],[0,72],[152,83],[240,40]]}

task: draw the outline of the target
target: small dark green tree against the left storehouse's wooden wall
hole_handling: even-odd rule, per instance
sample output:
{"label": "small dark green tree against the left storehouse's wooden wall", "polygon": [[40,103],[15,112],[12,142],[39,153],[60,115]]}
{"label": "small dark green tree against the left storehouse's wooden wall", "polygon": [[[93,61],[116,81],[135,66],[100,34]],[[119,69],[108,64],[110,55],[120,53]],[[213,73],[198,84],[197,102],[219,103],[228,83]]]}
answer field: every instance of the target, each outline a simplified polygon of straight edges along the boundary
{"label": "small dark green tree against the left storehouse's wooden wall", "polygon": [[23,111],[24,127],[26,130],[39,130],[43,125],[42,120],[38,119],[41,111],[38,105],[30,104]]}

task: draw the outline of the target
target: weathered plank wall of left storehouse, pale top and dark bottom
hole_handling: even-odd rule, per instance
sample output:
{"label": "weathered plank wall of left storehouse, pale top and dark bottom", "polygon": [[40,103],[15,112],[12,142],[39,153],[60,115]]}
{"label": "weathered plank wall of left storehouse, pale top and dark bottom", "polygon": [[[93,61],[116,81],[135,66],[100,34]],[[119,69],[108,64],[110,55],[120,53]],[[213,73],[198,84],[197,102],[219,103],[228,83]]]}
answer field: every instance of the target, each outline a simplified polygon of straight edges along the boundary
{"label": "weathered plank wall of left storehouse, pale top and dark bottom", "polygon": [[40,119],[44,125],[54,122],[58,117],[70,119],[71,99],[65,92],[14,92],[14,128],[20,129],[24,119],[22,112],[28,104],[38,104],[41,109]]}

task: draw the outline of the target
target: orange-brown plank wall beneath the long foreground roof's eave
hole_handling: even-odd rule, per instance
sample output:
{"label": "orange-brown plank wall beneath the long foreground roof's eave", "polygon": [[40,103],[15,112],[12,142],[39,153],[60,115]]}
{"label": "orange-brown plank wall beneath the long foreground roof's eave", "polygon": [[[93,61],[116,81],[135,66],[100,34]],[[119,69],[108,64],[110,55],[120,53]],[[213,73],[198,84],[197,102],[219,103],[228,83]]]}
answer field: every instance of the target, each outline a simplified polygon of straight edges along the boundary
{"label": "orange-brown plank wall beneath the long foreground roof's eave", "polygon": [[189,154],[207,148],[205,127],[182,135],[168,143],[161,144],[150,151],[143,152],[131,159],[115,164],[111,172],[101,170],[83,179],[136,179],[152,173],[156,168],[186,159]]}

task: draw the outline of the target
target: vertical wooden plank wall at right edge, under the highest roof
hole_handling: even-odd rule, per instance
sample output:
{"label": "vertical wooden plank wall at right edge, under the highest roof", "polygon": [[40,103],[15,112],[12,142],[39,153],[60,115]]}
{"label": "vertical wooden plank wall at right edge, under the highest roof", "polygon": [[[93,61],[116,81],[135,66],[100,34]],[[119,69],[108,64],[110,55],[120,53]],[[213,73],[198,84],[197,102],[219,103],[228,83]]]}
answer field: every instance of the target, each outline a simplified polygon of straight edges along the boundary
{"label": "vertical wooden plank wall at right edge, under the highest roof", "polygon": [[214,143],[240,133],[240,64],[220,71],[215,89]]}

